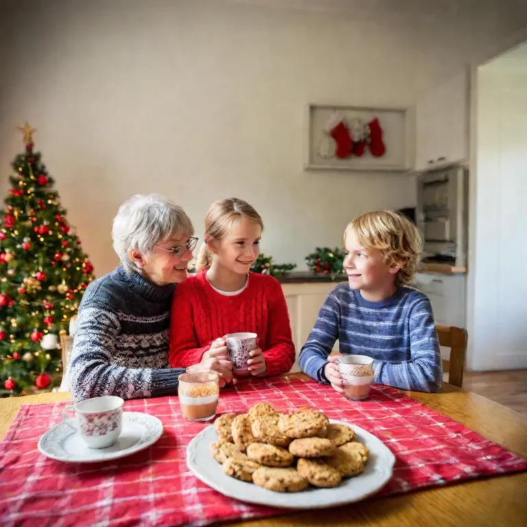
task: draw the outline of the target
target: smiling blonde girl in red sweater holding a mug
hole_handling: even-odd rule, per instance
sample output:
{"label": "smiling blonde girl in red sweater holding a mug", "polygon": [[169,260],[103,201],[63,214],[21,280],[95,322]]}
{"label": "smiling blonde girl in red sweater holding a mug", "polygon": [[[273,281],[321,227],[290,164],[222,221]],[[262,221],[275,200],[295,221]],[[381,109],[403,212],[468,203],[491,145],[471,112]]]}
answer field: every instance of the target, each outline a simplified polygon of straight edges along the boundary
{"label": "smiling blonde girl in red sweater holding a mug", "polygon": [[[224,336],[257,333],[250,375],[288,372],[294,362],[288,307],[279,282],[249,273],[264,224],[236,198],[215,201],[205,217],[205,242],[196,276],[181,283],[172,304],[169,362],[185,368],[211,359],[229,364]],[[229,364],[230,365],[230,364]]]}

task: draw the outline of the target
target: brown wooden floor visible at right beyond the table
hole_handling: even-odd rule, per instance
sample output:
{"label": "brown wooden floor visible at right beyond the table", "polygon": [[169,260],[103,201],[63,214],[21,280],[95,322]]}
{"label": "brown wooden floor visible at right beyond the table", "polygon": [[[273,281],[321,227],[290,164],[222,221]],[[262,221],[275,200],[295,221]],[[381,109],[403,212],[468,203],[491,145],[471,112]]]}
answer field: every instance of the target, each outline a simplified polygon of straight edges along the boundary
{"label": "brown wooden floor visible at right beyond the table", "polygon": [[527,370],[465,371],[462,388],[527,415]]}

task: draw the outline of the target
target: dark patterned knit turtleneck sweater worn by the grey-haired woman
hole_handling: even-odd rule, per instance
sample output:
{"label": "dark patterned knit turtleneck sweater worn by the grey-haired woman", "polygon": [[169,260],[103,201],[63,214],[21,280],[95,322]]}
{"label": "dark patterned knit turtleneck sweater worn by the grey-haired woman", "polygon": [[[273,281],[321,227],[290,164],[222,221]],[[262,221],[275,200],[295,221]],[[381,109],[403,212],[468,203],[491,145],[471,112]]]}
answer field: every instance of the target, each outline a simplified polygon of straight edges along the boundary
{"label": "dark patterned knit turtleneck sweater worn by the grey-haired woman", "polygon": [[75,401],[177,392],[168,366],[174,284],[155,285],[119,267],[91,283],[79,307],[69,375]]}

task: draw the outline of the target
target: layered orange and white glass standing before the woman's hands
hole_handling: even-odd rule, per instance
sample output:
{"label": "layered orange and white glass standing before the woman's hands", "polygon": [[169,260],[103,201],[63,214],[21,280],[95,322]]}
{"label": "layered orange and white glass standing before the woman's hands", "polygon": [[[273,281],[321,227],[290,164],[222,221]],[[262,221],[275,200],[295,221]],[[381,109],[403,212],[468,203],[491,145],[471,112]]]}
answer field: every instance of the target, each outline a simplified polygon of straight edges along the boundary
{"label": "layered orange and white glass standing before the woman's hands", "polygon": [[178,397],[183,417],[198,423],[214,419],[220,398],[220,377],[213,371],[182,373]]}

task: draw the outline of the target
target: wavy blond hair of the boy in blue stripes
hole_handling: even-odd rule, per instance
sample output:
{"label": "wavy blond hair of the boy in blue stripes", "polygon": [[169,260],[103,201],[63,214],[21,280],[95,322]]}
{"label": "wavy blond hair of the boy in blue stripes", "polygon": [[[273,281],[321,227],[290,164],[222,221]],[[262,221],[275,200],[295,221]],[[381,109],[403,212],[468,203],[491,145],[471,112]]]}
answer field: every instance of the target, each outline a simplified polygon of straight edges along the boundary
{"label": "wavy blond hair of the boy in blue stripes", "polygon": [[423,239],[410,220],[391,211],[366,212],[348,224],[344,231],[344,245],[350,232],[364,248],[380,250],[385,264],[400,266],[395,285],[412,281],[419,266]]}

